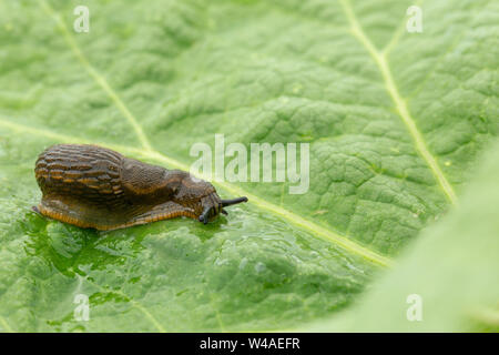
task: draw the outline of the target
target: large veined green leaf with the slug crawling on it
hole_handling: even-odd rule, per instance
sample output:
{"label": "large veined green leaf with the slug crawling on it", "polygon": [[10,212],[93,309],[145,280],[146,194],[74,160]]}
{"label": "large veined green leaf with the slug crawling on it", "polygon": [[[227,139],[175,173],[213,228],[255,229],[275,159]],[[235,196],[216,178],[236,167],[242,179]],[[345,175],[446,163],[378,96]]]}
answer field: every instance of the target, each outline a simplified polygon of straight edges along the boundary
{"label": "large veined green leaf with the slug crawling on it", "polygon": [[[269,331],[335,316],[460,200],[498,134],[493,1],[0,1],[0,328]],[[310,183],[216,183],[206,226],[42,219],[54,143],[187,170],[196,142],[310,144]],[[397,266],[395,266],[397,267]],[[75,296],[90,320],[74,317]]]}

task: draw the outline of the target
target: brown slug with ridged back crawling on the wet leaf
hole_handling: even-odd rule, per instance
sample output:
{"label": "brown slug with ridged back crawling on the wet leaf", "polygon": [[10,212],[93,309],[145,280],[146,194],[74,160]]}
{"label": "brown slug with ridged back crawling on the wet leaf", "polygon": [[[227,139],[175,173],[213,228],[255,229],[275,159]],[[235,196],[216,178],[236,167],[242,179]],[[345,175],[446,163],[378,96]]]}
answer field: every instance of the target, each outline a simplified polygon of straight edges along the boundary
{"label": "brown slug with ridged back crawling on the wet leaf", "polygon": [[246,197],[221,200],[206,181],[98,145],[58,144],[34,168],[44,216],[100,231],[187,216],[206,224]]}

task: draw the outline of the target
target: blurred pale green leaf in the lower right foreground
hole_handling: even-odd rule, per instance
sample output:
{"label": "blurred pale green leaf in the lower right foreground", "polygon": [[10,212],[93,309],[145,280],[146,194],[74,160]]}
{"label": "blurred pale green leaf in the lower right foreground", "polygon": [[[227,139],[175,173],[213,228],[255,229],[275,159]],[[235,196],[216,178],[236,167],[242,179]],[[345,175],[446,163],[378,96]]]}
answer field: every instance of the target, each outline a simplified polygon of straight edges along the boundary
{"label": "blurred pale green leaf in the lower right foreground", "polygon": [[[490,151],[462,205],[431,226],[397,268],[358,300],[358,307],[315,331],[499,332],[499,144]],[[420,297],[420,321],[407,312]],[[410,314],[410,311],[409,311]]]}

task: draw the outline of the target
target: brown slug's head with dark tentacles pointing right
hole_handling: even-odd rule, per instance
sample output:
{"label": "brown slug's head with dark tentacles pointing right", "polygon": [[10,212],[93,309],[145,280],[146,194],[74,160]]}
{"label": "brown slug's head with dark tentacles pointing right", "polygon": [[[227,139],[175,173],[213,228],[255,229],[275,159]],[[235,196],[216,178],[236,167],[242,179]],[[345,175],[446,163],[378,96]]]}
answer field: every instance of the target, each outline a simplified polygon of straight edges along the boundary
{"label": "brown slug's head with dark tentacles pointing right", "polygon": [[204,224],[215,220],[221,213],[227,214],[224,207],[247,202],[247,197],[222,200],[211,183],[191,176],[182,180],[174,200],[176,203],[194,210],[198,221]]}

